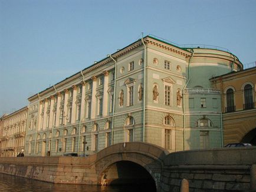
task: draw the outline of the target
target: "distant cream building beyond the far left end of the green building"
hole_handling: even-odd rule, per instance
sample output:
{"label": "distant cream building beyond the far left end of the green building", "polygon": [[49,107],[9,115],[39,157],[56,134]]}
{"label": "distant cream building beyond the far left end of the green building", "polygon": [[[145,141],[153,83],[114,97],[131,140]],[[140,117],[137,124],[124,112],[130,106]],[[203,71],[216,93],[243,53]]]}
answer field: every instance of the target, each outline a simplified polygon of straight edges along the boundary
{"label": "distant cream building beyond the far left end of the green building", "polygon": [[27,116],[28,108],[23,107],[2,117],[1,157],[17,157],[19,153],[24,153]]}

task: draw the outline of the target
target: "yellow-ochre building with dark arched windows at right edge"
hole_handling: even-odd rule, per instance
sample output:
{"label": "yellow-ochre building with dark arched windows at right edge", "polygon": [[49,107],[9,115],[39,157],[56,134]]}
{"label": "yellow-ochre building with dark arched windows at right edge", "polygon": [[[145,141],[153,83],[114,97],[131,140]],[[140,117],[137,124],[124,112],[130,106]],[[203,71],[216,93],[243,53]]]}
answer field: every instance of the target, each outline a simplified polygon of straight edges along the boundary
{"label": "yellow-ochre building with dark arched windows at right edge", "polygon": [[222,92],[224,145],[256,145],[256,67],[211,78]]}

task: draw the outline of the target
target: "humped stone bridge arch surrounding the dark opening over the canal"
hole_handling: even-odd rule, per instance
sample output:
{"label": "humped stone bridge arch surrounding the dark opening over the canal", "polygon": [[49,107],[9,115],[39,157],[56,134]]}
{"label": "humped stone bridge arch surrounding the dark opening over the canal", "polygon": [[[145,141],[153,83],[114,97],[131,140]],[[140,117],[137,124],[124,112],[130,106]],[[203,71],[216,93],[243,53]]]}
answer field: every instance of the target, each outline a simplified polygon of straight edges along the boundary
{"label": "humped stone bridge arch surrounding the dark opening over the canal", "polygon": [[106,178],[104,178],[106,170],[111,165],[122,161],[132,162],[145,168],[155,181],[156,188],[158,188],[160,184],[160,171],[163,167],[163,158],[168,153],[162,147],[142,142],[111,145],[97,154],[97,183],[109,184]]}

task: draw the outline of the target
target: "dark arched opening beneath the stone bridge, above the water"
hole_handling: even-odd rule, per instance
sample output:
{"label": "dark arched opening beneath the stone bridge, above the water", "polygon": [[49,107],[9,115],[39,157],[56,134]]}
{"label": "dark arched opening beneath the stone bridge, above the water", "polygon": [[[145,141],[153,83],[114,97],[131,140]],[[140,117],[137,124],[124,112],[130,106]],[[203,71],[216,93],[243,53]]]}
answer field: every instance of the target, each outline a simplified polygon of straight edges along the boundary
{"label": "dark arched opening beneath the stone bridge, above the water", "polygon": [[156,182],[146,168],[132,161],[117,161],[101,174],[103,185],[133,185],[143,191],[156,191]]}

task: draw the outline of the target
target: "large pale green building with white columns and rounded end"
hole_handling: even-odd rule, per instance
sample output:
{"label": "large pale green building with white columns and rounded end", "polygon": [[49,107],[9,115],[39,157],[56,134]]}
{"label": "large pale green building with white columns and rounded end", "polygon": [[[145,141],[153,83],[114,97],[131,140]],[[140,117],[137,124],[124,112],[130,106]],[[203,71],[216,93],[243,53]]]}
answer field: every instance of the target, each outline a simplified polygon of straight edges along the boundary
{"label": "large pale green building with white columns and rounded end", "polygon": [[221,90],[209,79],[240,70],[229,52],[147,36],[28,98],[25,155],[89,155],[132,141],[221,147]]}

